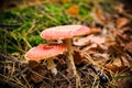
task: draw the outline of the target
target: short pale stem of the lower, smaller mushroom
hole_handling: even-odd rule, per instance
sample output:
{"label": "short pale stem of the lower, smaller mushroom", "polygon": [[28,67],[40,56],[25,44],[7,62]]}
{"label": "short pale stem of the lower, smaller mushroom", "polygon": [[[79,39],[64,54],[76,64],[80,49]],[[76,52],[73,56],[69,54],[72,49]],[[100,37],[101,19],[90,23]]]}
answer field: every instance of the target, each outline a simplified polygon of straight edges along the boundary
{"label": "short pale stem of the lower, smaller mushroom", "polygon": [[56,65],[55,65],[53,58],[47,59],[47,69],[50,69],[52,72],[52,74],[54,74],[54,75],[57,74]]}

